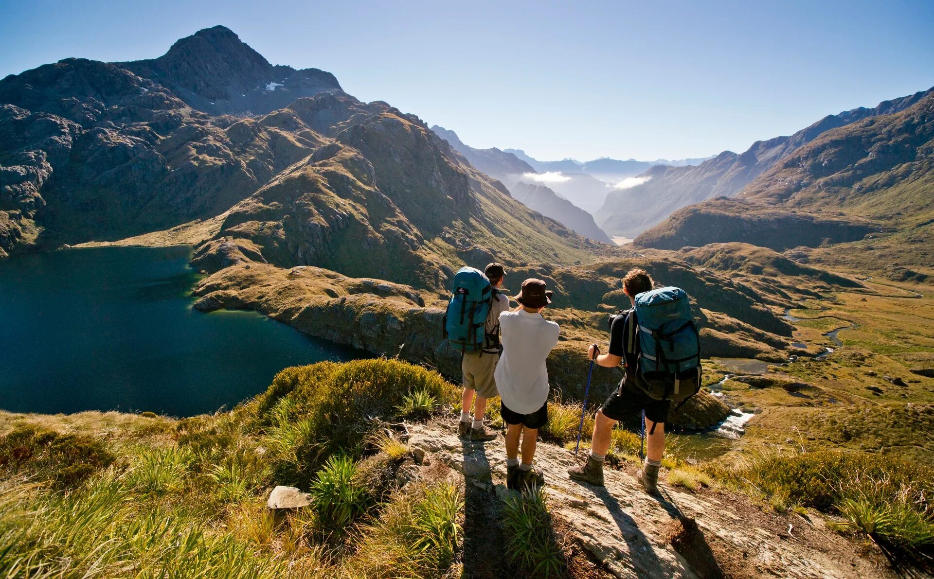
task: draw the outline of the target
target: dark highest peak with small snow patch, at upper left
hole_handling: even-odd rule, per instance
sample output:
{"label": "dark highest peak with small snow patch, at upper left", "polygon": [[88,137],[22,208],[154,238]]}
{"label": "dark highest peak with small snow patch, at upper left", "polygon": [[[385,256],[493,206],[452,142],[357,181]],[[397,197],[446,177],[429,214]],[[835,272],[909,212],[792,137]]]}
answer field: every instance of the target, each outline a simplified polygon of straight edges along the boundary
{"label": "dark highest peak with small snow patch, at upper left", "polygon": [[224,26],[186,36],[159,58],[114,64],[214,115],[264,114],[303,96],[341,90],[331,73],[269,64]]}

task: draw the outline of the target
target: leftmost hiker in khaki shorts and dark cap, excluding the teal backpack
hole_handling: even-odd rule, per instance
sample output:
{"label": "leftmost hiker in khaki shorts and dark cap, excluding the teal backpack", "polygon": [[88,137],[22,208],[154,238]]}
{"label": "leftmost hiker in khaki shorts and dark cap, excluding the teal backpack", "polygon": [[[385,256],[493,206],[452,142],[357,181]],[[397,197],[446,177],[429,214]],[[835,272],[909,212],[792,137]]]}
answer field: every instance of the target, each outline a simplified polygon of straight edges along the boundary
{"label": "leftmost hiker in khaki shorts and dark cap, excluding the teal backpack", "polygon": [[[491,289],[482,345],[477,350],[464,348],[463,358],[460,360],[464,392],[460,401],[458,436],[465,436],[474,442],[496,438],[496,432],[484,425],[483,415],[487,410],[488,399],[499,396],[493,371],[496,369],[496,362],[500,360],[500,314],[509,311],[509,298],[499,291],[506,276],[502,264],[490,263],[484,270],[484,275],[487,276]],[[470,413],[471,403],[474,404],[473,417]]]}

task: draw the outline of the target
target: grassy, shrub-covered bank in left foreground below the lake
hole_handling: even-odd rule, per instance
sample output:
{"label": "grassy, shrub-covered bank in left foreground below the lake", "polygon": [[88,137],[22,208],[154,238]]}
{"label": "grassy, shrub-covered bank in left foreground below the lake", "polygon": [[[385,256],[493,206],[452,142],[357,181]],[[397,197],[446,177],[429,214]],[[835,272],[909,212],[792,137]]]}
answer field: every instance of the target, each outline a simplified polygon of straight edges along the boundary
{"label": "grassy, shrub-covered bank in left foreground below the lake", "polygon": [[[230,412],[79,417],[94,436],[35,426],[72,429],[66,417],[0,416],[15,425],[0,438],[0,576],[441,576],[459,548],[460,491],[390,494],[408,449],[386,422],[419,391],[454,400],[438,374],[361,360],[287,369]],[[107,426],[124,423],[125,436]],[[266,490],[292,481],[312,505],[274,515]]]}

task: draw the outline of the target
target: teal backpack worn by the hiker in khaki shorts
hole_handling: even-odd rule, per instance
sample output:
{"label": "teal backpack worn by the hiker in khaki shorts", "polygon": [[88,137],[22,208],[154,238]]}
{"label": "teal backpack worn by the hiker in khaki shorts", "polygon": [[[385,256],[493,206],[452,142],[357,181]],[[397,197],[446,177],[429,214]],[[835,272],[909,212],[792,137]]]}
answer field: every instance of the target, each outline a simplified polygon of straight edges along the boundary
{"label": "teal backpack worn by the hiker in khaki shorts", "polygon": [[493,287],[478,269],[461,267],[454,275],[445,313],[445,337],[459,352],[483,352]]}

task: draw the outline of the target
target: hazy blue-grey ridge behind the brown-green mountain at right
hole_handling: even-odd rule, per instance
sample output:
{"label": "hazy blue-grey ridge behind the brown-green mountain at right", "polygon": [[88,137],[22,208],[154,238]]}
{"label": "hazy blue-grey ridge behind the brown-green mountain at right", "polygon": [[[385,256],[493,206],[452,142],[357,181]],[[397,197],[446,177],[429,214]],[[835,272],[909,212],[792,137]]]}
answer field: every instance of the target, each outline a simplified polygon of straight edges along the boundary
{"label": "hazy blue-grey ridge behind the brown-green mountain at right", "polygon": [[596,213],[597,223],[611,235],[635,237],[675,210],[717,196],[734,196],[795,150],[820,134],[879,115],[897,113],[917,103],[927,92],[884,101],[873,108],[854,108],[828,115],[792,134],[757,141],[742,154],[724,151],[697,166],[659,165],[646,171],[642,183],[612,191]]}

